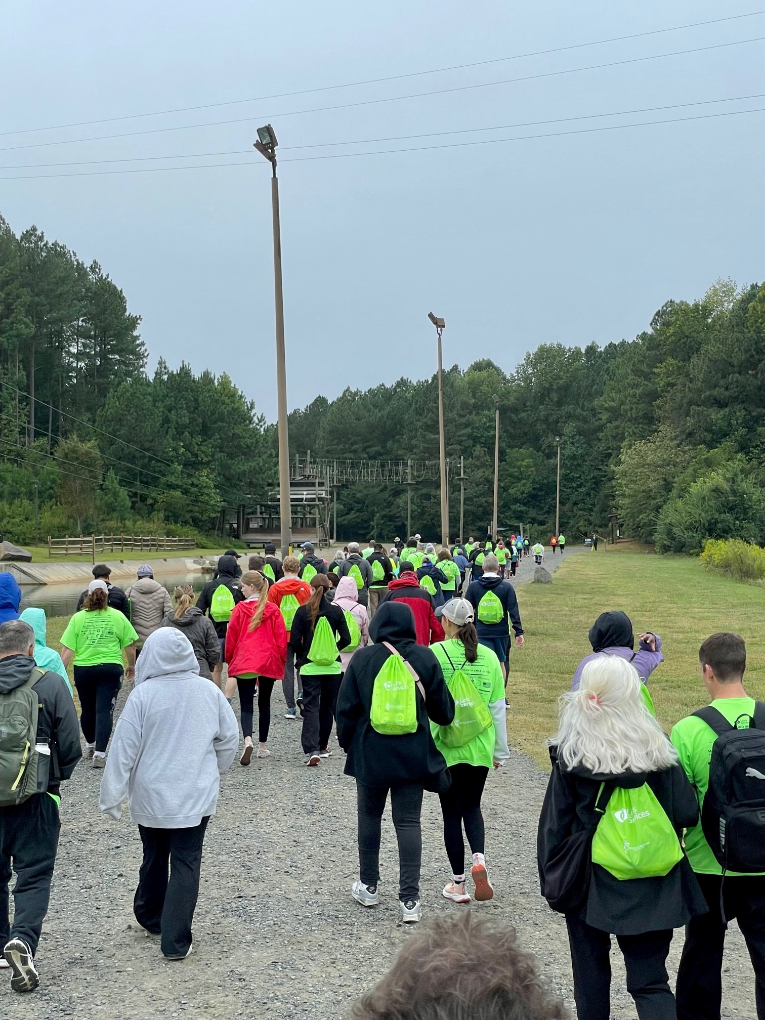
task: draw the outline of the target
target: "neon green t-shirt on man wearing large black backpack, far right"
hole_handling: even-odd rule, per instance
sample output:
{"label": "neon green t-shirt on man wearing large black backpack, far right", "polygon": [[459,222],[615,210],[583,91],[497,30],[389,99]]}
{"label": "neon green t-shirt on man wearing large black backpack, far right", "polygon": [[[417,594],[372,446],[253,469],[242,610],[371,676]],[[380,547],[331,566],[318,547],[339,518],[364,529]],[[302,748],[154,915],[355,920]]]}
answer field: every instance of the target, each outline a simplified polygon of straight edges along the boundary
{"label": "neon green t-shirt on man wearing large black backpack, far right", "polygon": [[[734,723],[740,715],[754,715],[755,700],[718,698],[712,702],[712,708],[722,712],[729,723]],[[672,727],[672,744],[677,749],[680,764],[685,769],[688,781],[696,787],[700,808],[704,805],[704,797],[709,786],[709,762],[712,758],[712,745],[716,740],[715,731],[698,716],[688,715]],[[722,874],[717,858],[704,838],[701,818],[698,825],[685,832],[685,853],[694,871],[703,875]],[[725,874],[737,875],[741,872],[726,871]]]}

